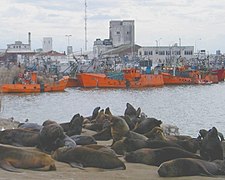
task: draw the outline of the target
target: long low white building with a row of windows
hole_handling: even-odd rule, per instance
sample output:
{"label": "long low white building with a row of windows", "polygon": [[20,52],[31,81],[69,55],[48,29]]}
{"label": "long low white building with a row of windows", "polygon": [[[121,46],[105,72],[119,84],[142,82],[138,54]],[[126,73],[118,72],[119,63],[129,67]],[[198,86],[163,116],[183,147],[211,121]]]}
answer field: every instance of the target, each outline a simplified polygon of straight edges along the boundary
{"label": "long low white building with a row of windows", "polygon": [[138,56],[151,59],[153,66],[168,63],[180,57],[190,60],[194,58],[194,46],[143,46],[138,50]]}

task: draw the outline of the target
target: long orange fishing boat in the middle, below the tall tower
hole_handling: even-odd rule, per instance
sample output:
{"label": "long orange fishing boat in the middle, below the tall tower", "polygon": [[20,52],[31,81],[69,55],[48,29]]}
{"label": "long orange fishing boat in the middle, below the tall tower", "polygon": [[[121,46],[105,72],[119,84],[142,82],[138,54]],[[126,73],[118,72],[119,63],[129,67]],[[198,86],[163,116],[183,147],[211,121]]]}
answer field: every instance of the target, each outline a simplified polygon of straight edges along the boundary
{"label": "long orange fishing boat in the middle, below the tall tower", "polygon": [[141,70],[135,68],[111,74],[78,73],[77,79],[81,87],[85,88],[143,88],[164,85],[161,74],[142,74]]}

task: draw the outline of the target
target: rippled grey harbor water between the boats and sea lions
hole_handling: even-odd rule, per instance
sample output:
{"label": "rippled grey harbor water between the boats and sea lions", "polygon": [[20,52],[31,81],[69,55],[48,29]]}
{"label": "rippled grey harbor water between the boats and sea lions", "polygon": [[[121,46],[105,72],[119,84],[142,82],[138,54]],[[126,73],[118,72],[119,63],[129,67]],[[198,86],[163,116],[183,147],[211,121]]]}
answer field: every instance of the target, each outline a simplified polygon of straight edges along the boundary
{"label": "rippled grey harbor water between the boats and sea lions", "polygon": [[95,107],[110,107],[123,115],[126,103],[140,107],[148,117],[176,125],[180,134],[196,137],[213,126],[225,133],[225,82],[211,85],[164,86],[146,89],[67,88],[65,92],[1,94],[1,117],[42,124],[47,119],[68,122],[80,113],[90,116]]}

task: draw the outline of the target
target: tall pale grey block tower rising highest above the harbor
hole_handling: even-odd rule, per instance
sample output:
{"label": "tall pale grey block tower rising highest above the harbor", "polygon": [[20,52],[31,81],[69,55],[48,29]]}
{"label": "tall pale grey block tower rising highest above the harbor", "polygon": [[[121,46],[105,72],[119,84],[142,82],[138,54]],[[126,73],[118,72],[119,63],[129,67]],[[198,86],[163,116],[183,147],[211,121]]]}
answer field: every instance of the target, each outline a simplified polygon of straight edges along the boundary
{"label": "tall pale grey block tower rising highest above the harbor", "polygon": [[110,21],[109,39],[114,47],[134,44],[134,20]]}

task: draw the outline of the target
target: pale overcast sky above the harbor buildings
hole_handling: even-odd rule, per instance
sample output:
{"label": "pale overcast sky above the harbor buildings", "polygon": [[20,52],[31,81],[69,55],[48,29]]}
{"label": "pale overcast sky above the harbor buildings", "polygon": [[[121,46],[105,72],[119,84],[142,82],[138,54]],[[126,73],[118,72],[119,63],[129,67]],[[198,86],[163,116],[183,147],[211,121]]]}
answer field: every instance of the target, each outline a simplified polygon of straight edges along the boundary
{"label": "pale overcast sky above the harbor buildings", "polygon": [[[20,40],[32,49],[43,37],[65,51],[67,37],[74,51],[84,49],[85,0],[0,0],[0,49]],[[135,42],[168,46],[179,42],[209,53],[225,53],[225,0],[87,0],[88,50],[96,38],[109,38],[109,21],[135,20]]]}

